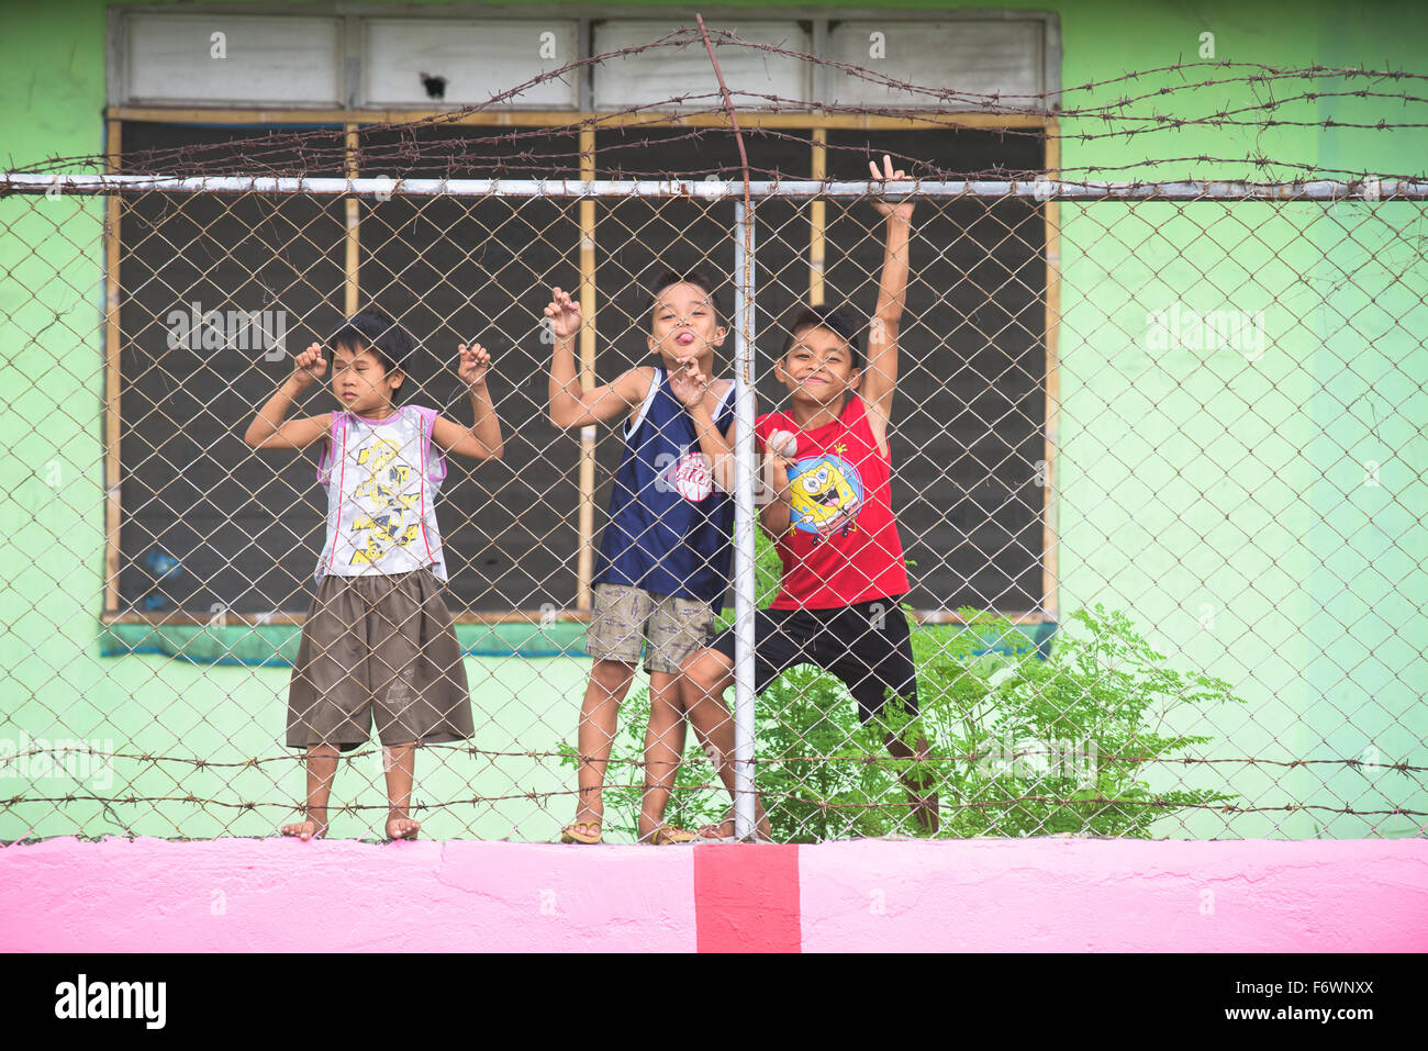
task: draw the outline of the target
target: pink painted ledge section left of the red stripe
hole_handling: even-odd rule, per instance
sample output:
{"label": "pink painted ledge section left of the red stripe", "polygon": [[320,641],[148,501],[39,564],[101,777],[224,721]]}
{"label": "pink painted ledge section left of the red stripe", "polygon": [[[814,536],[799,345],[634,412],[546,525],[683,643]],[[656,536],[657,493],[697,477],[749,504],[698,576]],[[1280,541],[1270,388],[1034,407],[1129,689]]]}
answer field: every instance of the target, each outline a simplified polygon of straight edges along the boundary
{"label": "pink painted ledge section left of the red stripe", "polygon": [[473,840],[46,840],[0,850],[0,950],[678,951],[688,851]]}

